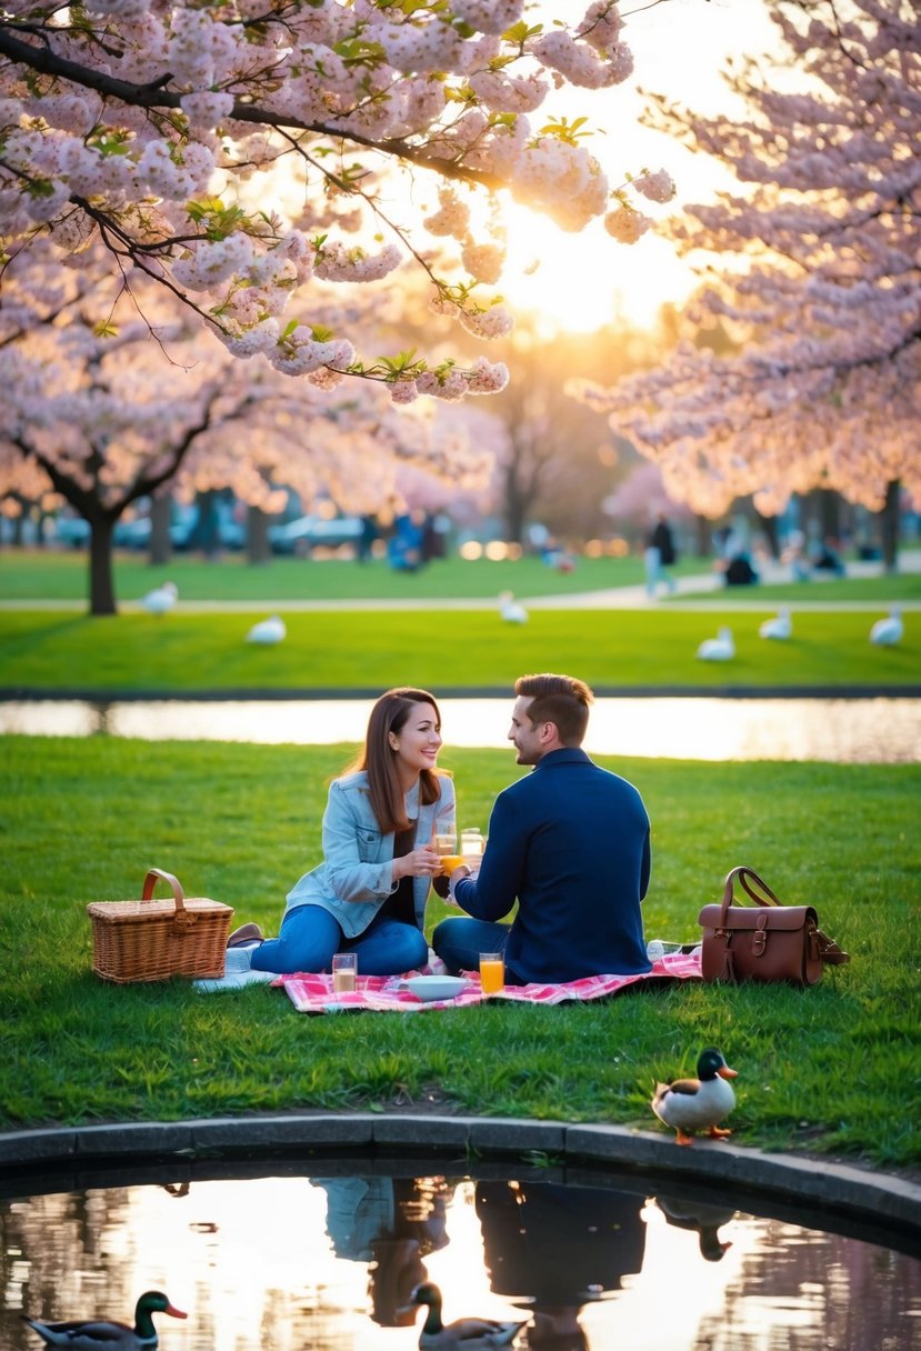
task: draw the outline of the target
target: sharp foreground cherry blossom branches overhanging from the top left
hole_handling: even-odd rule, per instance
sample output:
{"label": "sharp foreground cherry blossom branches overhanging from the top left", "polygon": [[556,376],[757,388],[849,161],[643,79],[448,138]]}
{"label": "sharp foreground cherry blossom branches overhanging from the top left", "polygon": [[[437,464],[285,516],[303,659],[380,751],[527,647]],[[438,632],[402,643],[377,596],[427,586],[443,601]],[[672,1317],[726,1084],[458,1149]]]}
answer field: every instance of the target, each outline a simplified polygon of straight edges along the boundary
{"label": "sharp foreground cherry blossom branches overhanging from the top left", "polygon": [[[93,243],[128,289],[149,278],[226,349],[327,388],[382,382],[405,405],[501,389],[501,363],[359,357],[317,326],[312,284],[393,288],[405,262],[478,339],[512,317],[492,288],[504,192],[614,239],[673,193],[609,182],[550,95],[632,70],[614,0],[529,23],[525,0],[4,0],[0,234],[59,258]],[[563,7],[569,8],[569,7]],[[552,99],[550,100],[552,101]],[[95,316],[99,320],[99,315]]]}

